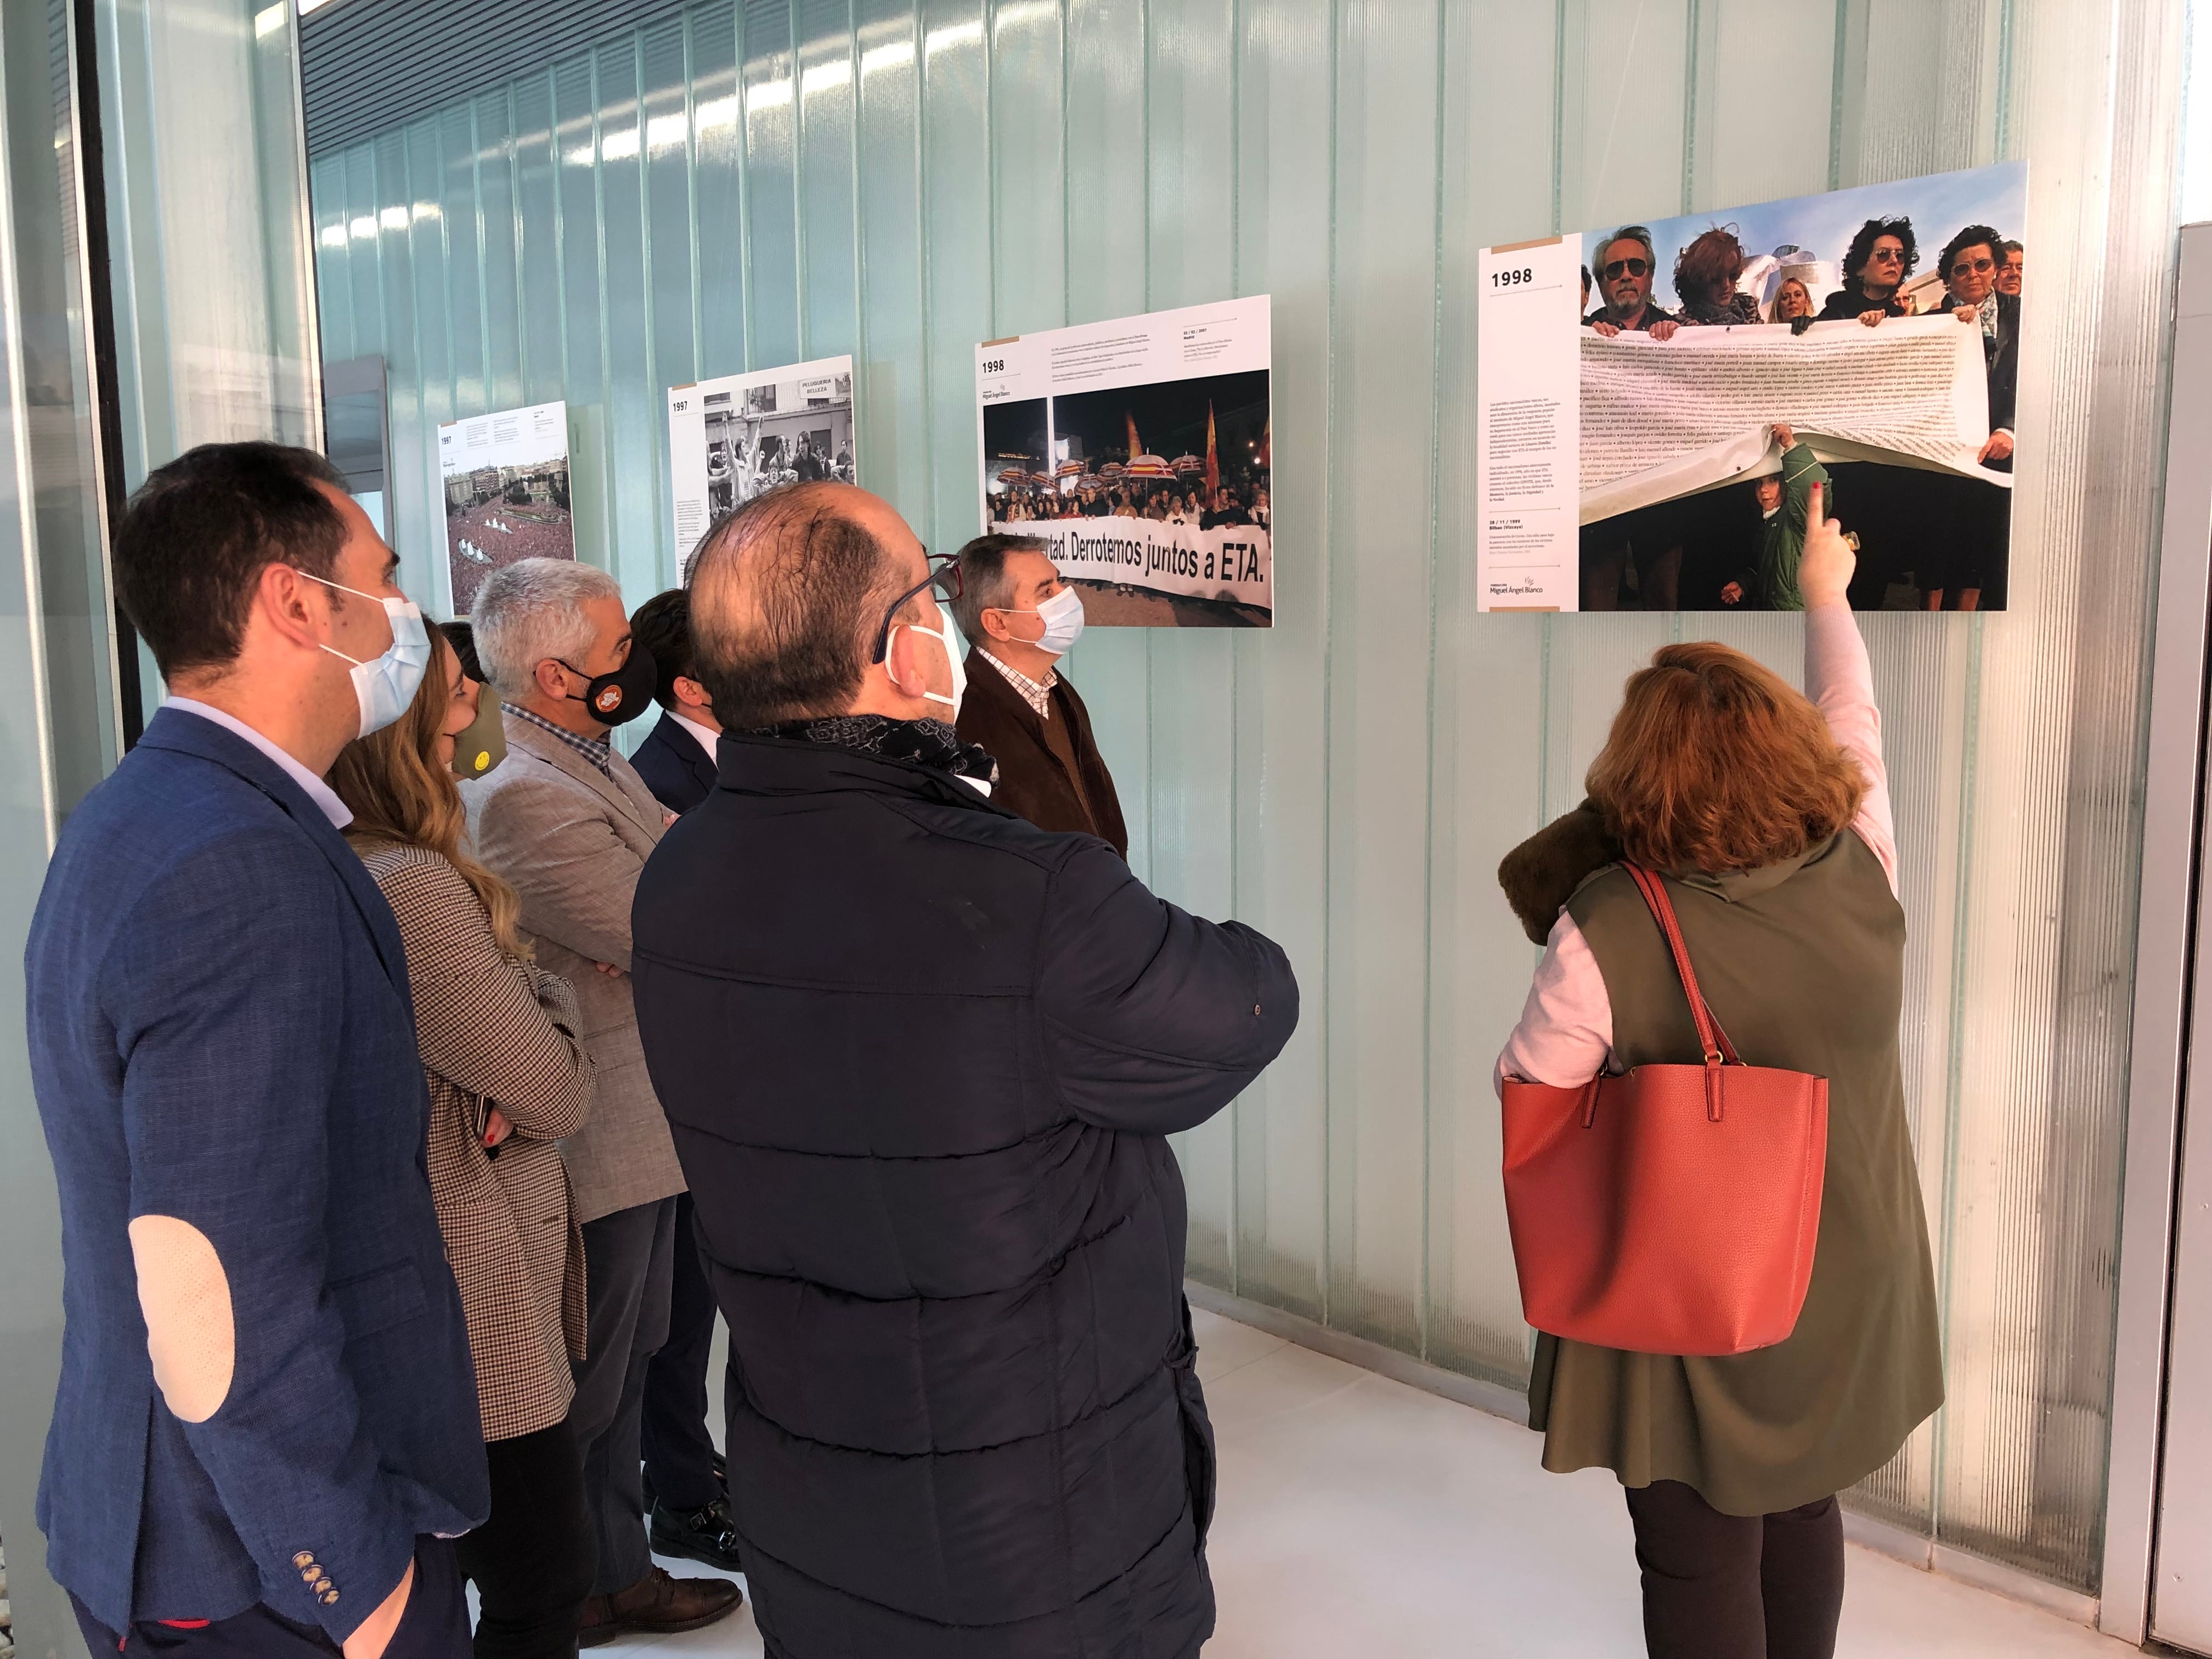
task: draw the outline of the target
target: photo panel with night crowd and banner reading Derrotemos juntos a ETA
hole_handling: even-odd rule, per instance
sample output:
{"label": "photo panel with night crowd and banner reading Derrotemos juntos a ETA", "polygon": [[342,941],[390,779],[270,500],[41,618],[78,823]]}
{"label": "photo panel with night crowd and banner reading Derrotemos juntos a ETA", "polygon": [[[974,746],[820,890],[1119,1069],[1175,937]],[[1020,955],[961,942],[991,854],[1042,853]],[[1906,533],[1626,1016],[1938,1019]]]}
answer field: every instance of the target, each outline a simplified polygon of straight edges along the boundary
{"label": "photo panel with night crowd and banner reading Derrotemos juntos a ETA", "polygon": [[1265,305],[980,347],[984,526],[1044,538],[1095,626],[1272,626]]}

